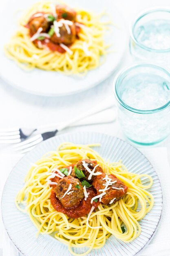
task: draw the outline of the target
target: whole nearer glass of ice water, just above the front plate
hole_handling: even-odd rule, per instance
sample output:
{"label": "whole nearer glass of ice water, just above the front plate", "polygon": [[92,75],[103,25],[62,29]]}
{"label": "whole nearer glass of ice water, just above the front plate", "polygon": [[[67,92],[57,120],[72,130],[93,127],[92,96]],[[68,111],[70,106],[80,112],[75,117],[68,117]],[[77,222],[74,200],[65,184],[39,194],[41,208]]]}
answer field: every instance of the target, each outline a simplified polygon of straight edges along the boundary
{"label": "whole nearer glass of ice water, just above the front plate", "polygon": [[152,64],[134,65],[114,81],[118,118],[130,141],[153,145],[170,134],[170,73]]}

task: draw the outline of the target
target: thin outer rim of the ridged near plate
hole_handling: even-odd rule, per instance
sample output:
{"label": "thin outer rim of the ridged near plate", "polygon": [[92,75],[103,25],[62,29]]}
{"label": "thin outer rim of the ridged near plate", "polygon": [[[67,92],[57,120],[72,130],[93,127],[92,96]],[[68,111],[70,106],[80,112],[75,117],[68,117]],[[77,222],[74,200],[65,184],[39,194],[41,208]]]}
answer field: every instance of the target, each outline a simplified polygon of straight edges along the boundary
{"label": "thin outer rim of the ridged near plate", "polygon": [[[118,139],[119,141],[123,141],[123,143],[125,143],[126,145],[129,145],[130,147],[132,147],[133,149],[135,148],[135,150],[137,150],[145,159],[147,159],[148,163],[150,164],[150,166],[152,166],[150,160],[138,149],[136,148],[134,145],[130,144],[128,141],[125,141],[124,139],[121,139],[117,136],[113,136],[113,135],[110,135],[110,134],[107,134],[105,132],[93,132],[93,131],[79,131],[79,132],[66,132],[66,133],[63,133],[63,134],[60,134],[60,135],[56,135],[52,138],[49,138],[49,139],[46,139],[45,141],[42,141],[40,144],[45,144],[46,141],[52,141],[53,139],[57,139],[57,137],[62,137],[62,136],[67,136],[67,135],[76,135],[78,137],[79,134],[97,134],[97,135],[100,135],[100,136],[108,136],[108,137],[111,137],[112,139]],[[1,202],[0,202],[0,215],[1,215],[1,218],[2,218],[2,223],[3,223],[3,226],[4,226],[4,229],[9,237],[9,239],[11,240],[12,244],[14,245],[14,247],[18,250],[18,252],[22,255],[22,256],[25,256],[25,254],[23,254],[21,252],[21,250],[18,248],[18,246],[13,242],[13,240],[11,239],[11,236],[9,235],[9,232],[7,231],[7,228],[4,224],[4,217],[3,217],[3,208],[2,208],[2,204],[3,204],[3,198],[4,198],[4,189],[5,189],[5,186],[7,184],[7,181],[9,179],[9,176],[11,175],[11,173],[13,172],[13,169],[19,164],[20,161],[22,161],[22,159],[24,159],[25,157],[27,157],[27,155],[31,154],[34,150],[36,151],[37,148],[40,146],[40,144],[36,145],[35,148],[33,148],[32,150],[30,150],[29,152],[27,152],[25,155],[23,155],[18,161],[17,163],[13,166],[13,168],[11,169],[8,177],[7,177],[7,180],[4,184],[4,187],[3,187],[3,190],[2,190],[2,196],[1,196]],[[155,228],[155,230],[153,231],[152,235],[150,236],[148,242],[146,242],[146,244],[136,253],[134,254],[134,256],[137,256],[143,249],[145,249],[148,244],[151,242],[151,240],[154,238],[155,234],[157,233],[157,229],[159,227],[159,223],[160,223],[160,220],[161,220],[161,216],[162,216],[162,211],[163,211],[163,191],[162,191],[162,186],[161,186],[161,182],[160,182],[160,179],[159,179],[159,175],[157,174],[157,171],[155,171],[155,168],[152,166],[153,168],[153,171],[156,173],[157,175],[157,179],[159,180],[159,186],[160,186],[160,190],[161,190],[161,212],[160,212],[160,216],[159,216],[159,220],[157,222],[157,227]],[[63,243],[62,243],[63,244]]]}

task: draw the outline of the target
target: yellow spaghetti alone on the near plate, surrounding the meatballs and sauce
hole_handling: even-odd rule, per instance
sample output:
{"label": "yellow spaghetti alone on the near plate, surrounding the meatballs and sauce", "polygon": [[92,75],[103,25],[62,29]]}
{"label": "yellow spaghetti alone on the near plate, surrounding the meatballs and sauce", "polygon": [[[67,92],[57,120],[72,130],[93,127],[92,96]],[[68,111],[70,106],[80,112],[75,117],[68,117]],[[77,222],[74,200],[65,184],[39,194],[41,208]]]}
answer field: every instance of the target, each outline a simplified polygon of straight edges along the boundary
{"label": "yellow spaghetti alone on the near plate, surrounding the meatballs and sauce", "polygon": [[[16,197],[16,206],[29,214],[40,234],[55,233],[55,238],[68,245],[73,255],[73,247],[91,249],[104,246],[106,239],[113,235],[129,243],[141,233],[139,220],[144,218],[153,206],[154,199],[147,189],[152,186],[149,175],[130,173],[120,162],[105,162],[91,147],[99,145],[78,145],[63,143],[56,151],[46,153],[31,166],[25,178],[24,187]],[[46,182],[54,168],[63,168],[82,159],[96,160],[105,173],[114,174],[126,186],[127,193],[111,204],[99,203],[98,207],[83,217],[70,218],[57,212],[50,200],[52,186]],[[147,180],[142,184],[141,178]]]}

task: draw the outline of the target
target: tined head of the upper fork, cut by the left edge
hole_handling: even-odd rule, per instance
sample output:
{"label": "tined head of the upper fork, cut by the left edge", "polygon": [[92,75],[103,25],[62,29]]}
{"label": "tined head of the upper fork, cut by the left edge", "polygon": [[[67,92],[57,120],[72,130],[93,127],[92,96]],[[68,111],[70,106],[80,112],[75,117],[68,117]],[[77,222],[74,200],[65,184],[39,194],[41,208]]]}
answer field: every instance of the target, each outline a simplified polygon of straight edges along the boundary
{"label": "tined head of the upper fork, cut by the left edge", "polygon": [[0,144],[14,144],[30,137],[37,129],[21,129],[18,127],[0,130]]}

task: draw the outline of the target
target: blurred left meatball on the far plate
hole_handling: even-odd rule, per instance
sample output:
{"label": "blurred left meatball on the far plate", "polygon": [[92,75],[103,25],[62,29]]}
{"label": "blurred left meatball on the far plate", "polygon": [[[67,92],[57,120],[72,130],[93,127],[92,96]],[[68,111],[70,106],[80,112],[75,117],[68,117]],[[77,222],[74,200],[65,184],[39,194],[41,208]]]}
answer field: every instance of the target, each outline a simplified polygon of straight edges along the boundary
{"label": "blurred left meatball on the far plate", "polygon": [[28,22],[28,27],[30,29],[30,34],[35,34],[40,27],[42,27],[42,32],[46,32],[50,27],[50,22],[42,15],[39,17],[32,16]]}

